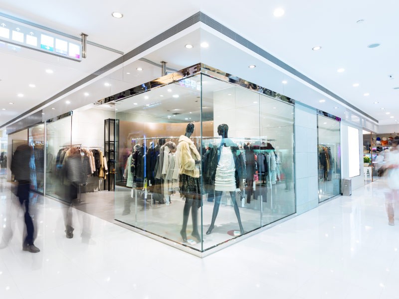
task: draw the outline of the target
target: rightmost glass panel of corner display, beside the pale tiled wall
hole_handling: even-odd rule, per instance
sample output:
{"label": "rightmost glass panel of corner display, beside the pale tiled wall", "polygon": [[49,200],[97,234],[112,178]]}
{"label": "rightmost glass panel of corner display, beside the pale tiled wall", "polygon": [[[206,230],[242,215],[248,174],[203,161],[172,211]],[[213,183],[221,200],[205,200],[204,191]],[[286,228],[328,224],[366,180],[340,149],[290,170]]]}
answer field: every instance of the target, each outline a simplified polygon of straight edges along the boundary
{"label": "rightmost glass panel of corner display, beside the pale tiled wall", "polygon": [[265,172],[262,173],[262,182],[259,181],[256,188],[260,189],[261,194],[263,192],[262,225],[267,225],[296,210],[294,106],[263,95],[260,100],[262,140],[259,152],[255,152],[260,162],[264,160]]}

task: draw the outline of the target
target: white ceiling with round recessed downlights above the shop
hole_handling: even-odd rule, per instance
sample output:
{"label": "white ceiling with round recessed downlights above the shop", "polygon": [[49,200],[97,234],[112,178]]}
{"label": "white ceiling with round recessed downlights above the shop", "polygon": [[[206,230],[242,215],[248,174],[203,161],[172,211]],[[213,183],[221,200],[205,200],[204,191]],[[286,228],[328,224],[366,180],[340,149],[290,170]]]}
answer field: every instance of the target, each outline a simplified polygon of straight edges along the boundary
{"label": "white ceiling with round recessed downlights above the shop", "polygon": [[[285,14],[279,18],[272,14],[277,7],[285,10]],[[384,3],[375,0],[336,0],[323,1],[322,4],[318,0],[307,0],[306,5],[296,0],[251,1],[246,5],[210,0],[152,1],[151,4],[142,0],[114,0],[101,5],[95,0],[70,0],[62,5],[50,0],[2,0],[0,3],[0,11],[3,13],[75,36],[85,32],[89,35],[88,40],[123,52],[132,50],[199,10],[378,119],[380,125],[394,124],[399,119],[399,90],[393,89],[399,87],[399,19],[396,15],[399,2],[395,0]],[[113,18],[112,11],[120,11],[124,17]],[[365,21],[357,23],[359,19]],[[372,43],[381,43],[381,46],[368,48],[367,45]],[[223,46],[220,41],[217,44]],[[322,46],[322,49],[312,51],[312,47],[316,45]],[[197,49],[195,47],[192,50]],[[198,56],[200,60],[195,63],[207,60],[212,66],[211,62],[218,59],[214,55],[217,51],[209,52],[212,55],[206,56],[206,53],[201,52]],[[226,57],[227,54],[231,54],[231,59],[235,58],[232,55],[234,53],[219,51],[221,57]],[[164,52],[161,57],[154,52],[153,55],[148,54],[147,58],[159,62],[161,58],[167,59],[165,56],[168,55],[168,52]],[[80,63],[27,49],[21,49],[20,52],[0,50],[0,126],[119,56],[90,45],[88,58]],[[231,69],[231,73],[239,75],[238,68],[246,67],[246,59],[249,58],[237,59],[237,64],[230,63],[230,66],[224,62],[224,68],[220,68],[229,72]],[[190,60],[184,55],[177,56],[176,53],[170,59],[172,60],[167,60],[170,66],[175,61],[176,66],[187,66]],[[242,65],[238,64],[240,61]],[[135,66],[137,63],[139,62],[135,62]],[[254,83],[259,81],[259,85],[278,92],[280,88],[283,94],[301,100],[297,93],[300,84],[292,82],[292,85],[274,88],[272,85],[281,82],[281,78],[274,76],[259,79],[262,68],[267,68],[262,63],[260,65],[261,67],[253,70],[253,78],[250,74],[249,77],[242,78]],[[125,66],[127,67],[129,66]],[[44,70],[47,68],[53,69],[54,73],[46,74]],[[152,69],[152,72],[134,75],[138,77],[132,80],[126,76],[125,68],[119,71],[119,77],[112,78],[108,74],[99,80],[95,90],[102,94],[100,86],[103,88],[103,81],[108,79],[118,81],[120,88],[127,89],[138,85],[136,82],[143,83],[149,81],[147,78],[159,77],[151,77],[158,70],[147,65],[146,68]],[[345,68],[345,72],[338,73],[338,68]],[[390,74],[395,79],[390,80]],[[140,76],[145,80],[140,82]],[[29,88],[28,84],[31,83],[36,87]],[[359,83],[360,86],[355,88],[352,86],[354,83]],[[118,91],[120,90],[116,92]],[[19,98],[18,93],[24,96]],[[113,88],[109,88],[109,93],[100,98],[113,93]],[[316,93],[309,93],[312,93],[309,89],[299,93],[300,98],[313,98],[315,105],[312,106],[320,105]],[[370,95],[364,96],[364,93]],[[9,102],[14,105],[8,104]],[[3,111],[2,108],[6,110]],[[326,108],[328,109],[319,109],[340,115],[338,111],[331,111],[331,107]],[[344,111],[344,107],[340,105],[338,110],[341,109]],[[391,114],[387,115],[387,112]],[[394,118],[390,118],[391,116]]]}

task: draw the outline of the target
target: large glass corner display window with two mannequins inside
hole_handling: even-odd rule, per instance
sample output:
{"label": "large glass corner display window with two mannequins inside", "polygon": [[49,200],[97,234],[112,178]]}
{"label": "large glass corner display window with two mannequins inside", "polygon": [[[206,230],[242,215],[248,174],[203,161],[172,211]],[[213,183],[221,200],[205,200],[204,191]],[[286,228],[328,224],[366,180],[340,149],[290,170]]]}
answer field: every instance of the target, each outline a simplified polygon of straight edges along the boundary
{"label": "large glass corner display window with two mannequins inside", "polygon": [[115,219],[203,252],[295,213],[294,106],[195,70],[116,101]]}

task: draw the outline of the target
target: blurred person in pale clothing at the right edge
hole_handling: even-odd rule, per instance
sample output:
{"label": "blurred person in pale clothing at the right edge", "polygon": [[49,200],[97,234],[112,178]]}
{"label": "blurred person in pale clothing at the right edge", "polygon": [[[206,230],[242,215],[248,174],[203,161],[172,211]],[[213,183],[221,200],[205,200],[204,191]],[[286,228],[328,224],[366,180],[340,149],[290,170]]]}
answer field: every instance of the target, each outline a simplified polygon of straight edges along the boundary
{"label": "blurred person in pale clothing at the right edge", "polygon": [[394,203],[399,199],[399,149],[398,141],[393,141],[394,149],[390,151],[383,166],[387,173],[387,183],[390,191],[385,194],[385,206],[388,214],[388,224],[395,225]]}

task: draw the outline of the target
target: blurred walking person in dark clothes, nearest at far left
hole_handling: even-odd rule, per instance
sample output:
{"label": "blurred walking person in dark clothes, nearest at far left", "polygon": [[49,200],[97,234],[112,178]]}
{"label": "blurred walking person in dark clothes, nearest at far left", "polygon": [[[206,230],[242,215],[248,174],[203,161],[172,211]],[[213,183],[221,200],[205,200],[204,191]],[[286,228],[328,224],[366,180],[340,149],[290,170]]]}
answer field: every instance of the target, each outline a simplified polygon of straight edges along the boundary
{"label": "blurred walking person in dark clothes, nearest at far left", "polygon": [[37,253],[40,250],[33,245],[34,227],[32,217],[29,215],[29,186],[30,186],[30,167],[29,162],[33,154],[33,149],[28,145],[21,145],[16,148],[11,160],[11,171],[15,180],[18,181],[17,196],[19,203],[25,203],[25,225],[26,237],[22,244],[22,250]]}

